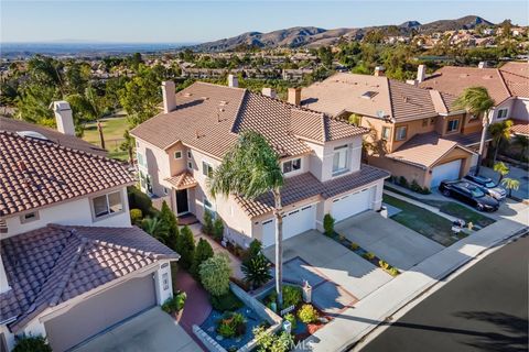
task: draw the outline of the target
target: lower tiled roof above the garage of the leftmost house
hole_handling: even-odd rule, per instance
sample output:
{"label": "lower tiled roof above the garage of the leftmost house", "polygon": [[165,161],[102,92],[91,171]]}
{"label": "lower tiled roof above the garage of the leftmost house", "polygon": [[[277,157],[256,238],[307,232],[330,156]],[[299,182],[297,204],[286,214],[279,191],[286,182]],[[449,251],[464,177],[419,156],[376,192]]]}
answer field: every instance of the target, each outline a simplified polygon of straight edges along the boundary
{"label": "lower tiled roof above the garage of the leftmost house", "polygon": [[19,331],[48,307],[179,255],[136,227],[50,224],[4,239],[1,258],[11,289],[0,295],[0,321]]}

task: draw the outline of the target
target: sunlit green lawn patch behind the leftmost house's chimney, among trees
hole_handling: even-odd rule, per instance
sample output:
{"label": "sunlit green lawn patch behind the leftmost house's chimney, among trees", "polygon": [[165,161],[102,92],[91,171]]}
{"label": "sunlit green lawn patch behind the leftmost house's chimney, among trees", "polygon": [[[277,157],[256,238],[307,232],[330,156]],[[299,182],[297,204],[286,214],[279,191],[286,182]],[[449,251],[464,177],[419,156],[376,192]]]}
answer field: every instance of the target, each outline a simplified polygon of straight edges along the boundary
{"label": "sunlit green lawn patch behind the leftmost house's chimney, among trees", "polygon": [[[125,141],[123,133],[129,128],[127,118],[108,118],[101,119],[102,135],[105,138],[105,146],[108,151],[108,156],[121,161],[128,160],[127,151],[119,148]],[[83,134],[83,140],[100,146],[99,132],[97,131],[97,123],[87,123]]]}

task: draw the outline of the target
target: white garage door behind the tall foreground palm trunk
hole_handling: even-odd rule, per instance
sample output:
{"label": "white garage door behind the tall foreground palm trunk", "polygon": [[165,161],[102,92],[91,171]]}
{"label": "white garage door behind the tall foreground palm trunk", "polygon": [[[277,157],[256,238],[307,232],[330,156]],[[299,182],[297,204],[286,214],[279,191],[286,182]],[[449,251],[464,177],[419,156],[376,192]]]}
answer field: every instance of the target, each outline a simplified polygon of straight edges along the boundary
{"label": "white garage door behind the tall foreground palm trunk", "polygon": [[[305,206],[289,211],[283,216],[283,240],[296,234],[315,229],[316,205]],[[270,219],[262,222],[262,246],[276,243],[276,220]]]}

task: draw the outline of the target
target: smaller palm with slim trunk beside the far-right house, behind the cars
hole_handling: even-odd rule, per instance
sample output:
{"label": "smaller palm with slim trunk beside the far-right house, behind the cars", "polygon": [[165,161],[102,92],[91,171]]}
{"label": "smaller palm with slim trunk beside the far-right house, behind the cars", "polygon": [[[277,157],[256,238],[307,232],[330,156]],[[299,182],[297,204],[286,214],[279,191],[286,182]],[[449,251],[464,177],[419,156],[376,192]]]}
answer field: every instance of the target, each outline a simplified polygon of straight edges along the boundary
{"label": "smaller palm with slim trunk beside the far-right house, behind the cars", "polygon": [[479,174],[479,166],[482,164],[483,151],[485,148],[485,139],[487,135],[488,111],[494,107],[495,102],[488,95],[485,87],[468,87],[463,90],[463,94],[455,100],[454,107],[456,109],[464,109],[468,113],[476,117],[482,116],[483,131],[482,140],[479,142],[479,153],[477,155],[477,165],[474,175]]}

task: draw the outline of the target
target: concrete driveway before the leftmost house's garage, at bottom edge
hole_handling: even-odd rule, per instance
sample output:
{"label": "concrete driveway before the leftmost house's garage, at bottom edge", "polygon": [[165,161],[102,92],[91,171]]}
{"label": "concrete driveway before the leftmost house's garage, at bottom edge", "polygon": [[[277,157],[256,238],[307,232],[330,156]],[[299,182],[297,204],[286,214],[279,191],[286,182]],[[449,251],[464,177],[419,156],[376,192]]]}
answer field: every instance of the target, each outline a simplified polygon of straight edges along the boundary
{"label": "concrete driveway before the leftmost house's garage, at bottom edge", "polygon": [[194,340],[160,307],[91,339],[75,352],[194,352],[202,351]]}

